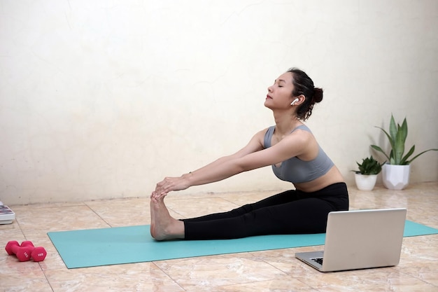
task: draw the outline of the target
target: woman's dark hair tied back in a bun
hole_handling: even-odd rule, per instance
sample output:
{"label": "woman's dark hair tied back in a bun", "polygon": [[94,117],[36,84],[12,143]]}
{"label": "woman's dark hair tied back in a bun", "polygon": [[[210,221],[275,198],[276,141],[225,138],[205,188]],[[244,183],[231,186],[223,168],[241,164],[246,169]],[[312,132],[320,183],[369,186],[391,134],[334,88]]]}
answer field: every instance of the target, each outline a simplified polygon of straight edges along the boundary
{"label": "woman's dark hair tied back in a bun", "polygon": [[307,120],[312,114],[313,104],[323,100],[323,89],[316,88],[311,78],[298,68],[290,68],[288,72],[292,73],[292,84],[294,85],[292,97],[299,95],[306,97],[297,109],[297,118]]}

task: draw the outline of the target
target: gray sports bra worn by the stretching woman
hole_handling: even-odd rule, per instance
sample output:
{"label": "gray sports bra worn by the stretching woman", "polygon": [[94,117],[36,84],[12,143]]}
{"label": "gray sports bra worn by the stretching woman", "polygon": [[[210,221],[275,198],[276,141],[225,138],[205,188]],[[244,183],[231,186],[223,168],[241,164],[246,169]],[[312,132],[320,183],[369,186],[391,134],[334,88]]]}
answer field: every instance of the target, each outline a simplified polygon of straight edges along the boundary
{"label": "gray sports bra worn by the stretching woman", "polygon": [[[306,125],[299,125],[292,132],[297,129],[302,129],[311,132]],[[264,148],[271,147],[272,134],[274,134],[275,126],[268,128],[264,134]],[[292,133],[291,132],[291,133]],[[307,181],[313,181],[318,177],[326,174],[334,165],[332,160],[325,154],[323,149],[318,145],[318,156],[315,159],[304,161],[297,157],[289,158],[281,162],[280,167],[272,165],[274,174],[283,181],[289,181],[291,183],[306,183]]]}

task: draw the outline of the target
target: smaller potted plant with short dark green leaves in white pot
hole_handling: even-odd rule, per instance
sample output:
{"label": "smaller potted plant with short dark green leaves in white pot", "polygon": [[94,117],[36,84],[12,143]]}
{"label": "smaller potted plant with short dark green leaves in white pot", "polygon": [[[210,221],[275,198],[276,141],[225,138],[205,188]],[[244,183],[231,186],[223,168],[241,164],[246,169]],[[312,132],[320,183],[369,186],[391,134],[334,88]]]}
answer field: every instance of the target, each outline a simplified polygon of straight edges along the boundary
{"label": "smaller potted plant with short dark green leaves in white pot", "polygon": [[[384,162],[383,162],[384,163]],[[382,165],[372,157],[362,159],[362,164],[356,161],[359,170],[355,172],[355,182],[359,190],[372,190],[376,185],[377,174],[382,170]]]}

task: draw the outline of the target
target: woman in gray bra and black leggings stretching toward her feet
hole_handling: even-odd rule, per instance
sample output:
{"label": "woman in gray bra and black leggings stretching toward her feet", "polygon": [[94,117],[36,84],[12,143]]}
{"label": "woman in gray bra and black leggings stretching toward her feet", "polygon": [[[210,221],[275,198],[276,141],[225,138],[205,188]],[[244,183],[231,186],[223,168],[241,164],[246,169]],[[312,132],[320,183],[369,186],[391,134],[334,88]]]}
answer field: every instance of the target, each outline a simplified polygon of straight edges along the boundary
{"label": "woman in gray bra and black leggings stretching toward her feet", "polygon": [[[157,183],[151,195],[150,234],[166,239],[232,239],[253,235],[325,232],[330,211],[348,210],[344,178],[320,148],[302,121],[313,104],[323,100],[304,71],[289,69],[269,86],[264,106],[274,113],[275,126],[257,132],[248,145],[180,177]],[[279,179],[295,190],[268,197],[229,212],[176,220],[169,215],[164,197],[184,190],[272,165]]]}

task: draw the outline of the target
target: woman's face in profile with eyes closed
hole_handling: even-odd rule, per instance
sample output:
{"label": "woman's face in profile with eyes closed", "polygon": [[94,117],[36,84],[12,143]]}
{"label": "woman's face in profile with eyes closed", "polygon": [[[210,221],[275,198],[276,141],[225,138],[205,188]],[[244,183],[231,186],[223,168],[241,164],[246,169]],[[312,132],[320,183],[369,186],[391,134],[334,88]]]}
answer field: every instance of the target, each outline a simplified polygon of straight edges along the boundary
{"label": "woman's face in profile with eyes closed", "polygon": [[269,86],[264,106],[269,109],[290,109],[293,90],[292,73],[281,74],[276,78],[274,84]]}

